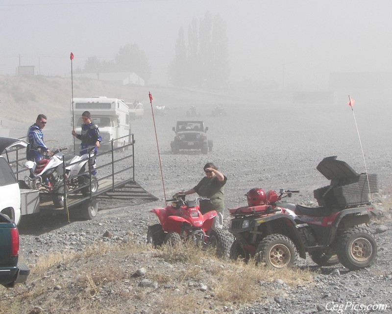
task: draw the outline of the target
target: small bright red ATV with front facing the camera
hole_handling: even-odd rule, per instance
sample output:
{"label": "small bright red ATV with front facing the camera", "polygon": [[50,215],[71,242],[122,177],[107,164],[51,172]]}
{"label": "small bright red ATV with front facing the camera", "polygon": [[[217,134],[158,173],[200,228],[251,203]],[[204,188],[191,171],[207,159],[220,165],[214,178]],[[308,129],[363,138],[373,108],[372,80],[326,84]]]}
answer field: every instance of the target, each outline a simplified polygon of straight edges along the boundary
{"label": "small bright red ATV with front facing the camera", "polygon": [[194,241],[196,245],[216,248],[216,254],[224,257],[229,248],[228,235],[222,229],[211,229],[215,210],[202,214],[198,201],[208,200],[196,198],[185,200],[185,194],[175,194],[170,205],[165,208],[154,208],[150,212],[158,216],[160,224],[148,227],[147,243],[154,246],[163,243],[180,243],[182,240]]}

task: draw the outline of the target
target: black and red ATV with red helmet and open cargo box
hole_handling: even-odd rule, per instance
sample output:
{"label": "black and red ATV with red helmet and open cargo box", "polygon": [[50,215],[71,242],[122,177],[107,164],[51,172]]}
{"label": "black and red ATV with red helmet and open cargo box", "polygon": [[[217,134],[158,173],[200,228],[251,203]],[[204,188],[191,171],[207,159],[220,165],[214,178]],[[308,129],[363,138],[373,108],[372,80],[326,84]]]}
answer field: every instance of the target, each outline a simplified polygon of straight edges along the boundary
{"label": "black and red ATV with red helmet and open cargo box", "polygon": [[281,268],[309,253],[320,266],[341,262],[350,270],[376,260],[377,243],[366,224],[374,215],[370,193],[378,192],[377,176],[358,174],[336,156],[324,158],[317,169],[331,180],[314,191],[319,207],[282,202],[298,191],[281,189],[278,195],[253,188],[246,194],[248,206],[230,209],[231,259],[255,257]]}

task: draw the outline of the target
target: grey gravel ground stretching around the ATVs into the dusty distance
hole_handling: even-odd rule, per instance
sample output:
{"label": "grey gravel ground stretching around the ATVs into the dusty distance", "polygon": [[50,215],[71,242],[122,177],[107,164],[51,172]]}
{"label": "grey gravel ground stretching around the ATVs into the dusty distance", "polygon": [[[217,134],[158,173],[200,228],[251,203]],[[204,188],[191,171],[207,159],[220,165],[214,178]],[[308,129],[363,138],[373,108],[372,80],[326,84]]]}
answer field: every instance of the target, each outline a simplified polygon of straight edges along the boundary
{"label": "grey gravel ground stretching around the ATVs into the dusty distance", "polygon": [[[271,296],[262,301],[222,306],[211,301],[211,293],[210,298],[205,298],[207,292],[201,291],[200,302],[205,303],[203,313],[392,313],[391,211],[383,206],[390,198],[386,191],[391,185],[392,172],[391,149],[389,144],[386,145],[390,139],[387,115],[384,111],[387,107],[378,108],[376,111],[360,106],[355,108],[358,110],[355,114],[361,134],[360,143],[350,107],[344,103],[316,106],[244,104],[233,101],[225,105],[228,113],[225,117],[211,116],[212,105],[197,105],[201,113],[198,119],[203,120],[209,127],[207,136],[214,141],[214,151],[207,156],[198,152],[180,152],[178,155],[172,155],[172,127],[177,120],[189,120],[186,117],[188,106],[167,107],[165,116],[155,116],[160,156],[157,153],[149,106],[146,106],[144,118],[132,124],[136,139],[135,179],[159,200],[132,206],[127,202],[110,204],[107,206],[110,209],[99,208],[98,216],[91,221],[72,217],[71,223],[68,223],[64,217],[57,216],[23,217],[19,228],[21,255],[30,265],[34,265],[38,258],[46,253],[83,251],[97,241],[144,243],[147,226],[157,222],[157,218],[149,213],[149,210],[164,205],[159,157],[166,198],[170,198],[180,189],[193,187],[203,176],[203,165],[212,161],[228,178],[225,186],[226,209],[245,205],[244,194],[256,186],[265,190],[299,189],[300,193],[291,199],[293,203],[317,206],[313,190],[329,184],[329,181],[316,170],[319,161],[323,157],[338,156],[338,159],[346,161],[357,172],[364,172],[362,144],[367,170],[369,173],[378,174],[380,185],[380,194],[373,195],[373,204],[379,213],[379,220],[370,225],[379,246],[378,258],[372,267],[361,271],[348,271],[340,264],[319,267],[310,259],[301,260],[299,267],[311,270],[314,285],[292,287],[285,283],[284,278],[276,278],[273,282],[260,283],[271,289]],[[48,126],[44,130],[46,139],[53,140],[53,146],[58,143],[69,145],[72,140],[69,119],[57,121],[62,131],[69,129],[66,132],[70,134],[69,138],[64,138],[64,135],[50,126],[50,117],[48,121]],[[24,135],[24,129],[27,127],[26,124],[20,129],[12,130],[13,136],[22,136],[19,133]],[[229,219],[227,211],[225,228],[228,227]],[[133,259],[132,263],[125,263],[131,263],[136,268],[146,267],[147,272],[151,270],[147,267],[149,263],[154,265],[153,267],[167,267],[157,261],[152,262],[150,258],[147,258],[146,263],[143,256],[134,256]],[[58,268],[63,277],[67,277],[67,274],[77,267],[78,265],[73,265],[71,269],[63,266]],[[48,275],[48,280],[56,276],[59,274]],[[58,285],[61,286],[61,277],[58,280]],[[121,288],[119,284],[117,289],[123,291],[127,288]],[[159,287],[156,292],[151,292],[148,299],[133,300],[132,307],[124,305],[125,309],[128,306],[128,310],[113,313],[165,313],[164,309],[154,307],[154,298],[159,298],[165,293],[162,290],[164,288]],[[10,298],[12,292],[0,290],[0,300]],[[45,306],[48,306],[48,300],[51,298],[55,298],[53,292],[48,293],[47,300],[37,299],[36,304],[30,304],[29,307],[40,306],[45,312]],[[109,309],[113,297],[105,298],[101,295],[101,302],[106,302]],[[387,305],[387,309],[380,309],[378,305],[381,304]],[[364,305],[366,309],[359,309],[360,305]],[[22,309],[27,308],[28,306]],[[72,310],[68,313],[72,313]],[[106,312],[91,310],[86,313]],[[108,310],[107,313],[112,312]],[[179,310],[177,313],[187,312]]]}

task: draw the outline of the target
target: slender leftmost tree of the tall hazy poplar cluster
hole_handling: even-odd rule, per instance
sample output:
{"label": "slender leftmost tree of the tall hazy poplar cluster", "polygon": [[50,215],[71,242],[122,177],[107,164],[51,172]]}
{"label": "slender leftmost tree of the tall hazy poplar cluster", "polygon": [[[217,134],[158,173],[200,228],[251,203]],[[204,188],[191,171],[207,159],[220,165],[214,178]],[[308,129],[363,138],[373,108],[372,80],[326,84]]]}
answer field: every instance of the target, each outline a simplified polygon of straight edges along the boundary
{"label": "slender leftmost tree of the tall hazy poplar cluster", "polygon": [[185,47],[184,30],[181,27],[175,43],[175,57],[169,65],[169,79],[176,86],[189,84],[187,50]]}

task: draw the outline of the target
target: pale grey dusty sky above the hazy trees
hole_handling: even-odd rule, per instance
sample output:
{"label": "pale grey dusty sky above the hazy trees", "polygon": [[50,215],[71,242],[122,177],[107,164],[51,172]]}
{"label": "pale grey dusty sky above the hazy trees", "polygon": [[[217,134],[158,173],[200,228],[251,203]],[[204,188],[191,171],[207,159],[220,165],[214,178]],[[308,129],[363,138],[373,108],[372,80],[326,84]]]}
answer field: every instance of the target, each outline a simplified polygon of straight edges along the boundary
{"label": "pale grey dusty sky above the hazy trees", "polygon": [[114,59],[137,44],[150,83],[166,84],[181,26],[217,13],[231,80],[324,89],[330,72],[392,71],[390,0],[0,0],[0,75],[19,64],[68,76],[86,58]]}

